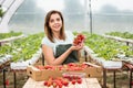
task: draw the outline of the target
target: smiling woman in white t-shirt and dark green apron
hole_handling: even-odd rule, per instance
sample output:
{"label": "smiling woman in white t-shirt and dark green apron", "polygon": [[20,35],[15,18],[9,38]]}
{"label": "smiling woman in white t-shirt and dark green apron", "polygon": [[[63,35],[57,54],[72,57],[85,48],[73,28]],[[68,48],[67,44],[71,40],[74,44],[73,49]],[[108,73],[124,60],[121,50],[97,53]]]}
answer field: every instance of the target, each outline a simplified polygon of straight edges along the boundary
{"label": "smiling woman in white t-shirt and dark green apron", "polygon": [[74,35],[64,31],[62,13],[52,10],[45,15],[45,37],[42,40],[44,59],[49,65],[62,65],[79,62],[78,52],[83,47],[73,45]]}

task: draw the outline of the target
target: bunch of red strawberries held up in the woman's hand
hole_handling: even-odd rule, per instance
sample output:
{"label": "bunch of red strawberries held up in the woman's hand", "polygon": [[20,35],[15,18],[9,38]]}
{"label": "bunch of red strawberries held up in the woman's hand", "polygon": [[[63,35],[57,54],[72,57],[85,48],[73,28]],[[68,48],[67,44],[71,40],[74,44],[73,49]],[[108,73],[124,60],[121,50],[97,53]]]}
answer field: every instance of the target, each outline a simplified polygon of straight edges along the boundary
{"label": "bunch of red strawberries held up in the woman's hand", "polygon": [[85,40],[85,36],[83,34],[78,34],[76,37],[73,41],[73,45],[81,45]]}

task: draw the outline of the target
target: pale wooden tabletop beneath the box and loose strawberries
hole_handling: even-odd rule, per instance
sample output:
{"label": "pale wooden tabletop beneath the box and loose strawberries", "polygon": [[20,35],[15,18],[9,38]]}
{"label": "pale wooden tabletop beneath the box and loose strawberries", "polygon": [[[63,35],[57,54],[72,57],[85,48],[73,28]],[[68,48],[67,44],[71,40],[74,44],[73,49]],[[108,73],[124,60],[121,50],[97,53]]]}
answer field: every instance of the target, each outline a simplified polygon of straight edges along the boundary
{"label": "pale wooden tabletop beneath the box and loose strawberries", "polygon": [[[35,81],[32,78],[29,78],[22,88],[53,88],[43,86],[44,81]],[[82,84],[71,85],[62,88],[102,88],[96,78],[83,78]]]}

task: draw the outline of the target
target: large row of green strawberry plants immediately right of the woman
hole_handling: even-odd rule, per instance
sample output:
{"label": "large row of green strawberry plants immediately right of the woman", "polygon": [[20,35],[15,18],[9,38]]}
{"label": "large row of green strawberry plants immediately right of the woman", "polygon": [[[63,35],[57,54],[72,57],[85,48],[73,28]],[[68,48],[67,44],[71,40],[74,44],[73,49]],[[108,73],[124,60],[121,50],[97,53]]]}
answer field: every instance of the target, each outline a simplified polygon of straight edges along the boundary
{"label": "large row of green strawberry plants immediately right of the woman", "polygon": [[[85,45],[89,46],[98,57],[103,57],[106,61],[117,58],[119,55],[125,55],[127,57],[133,56],[132,47],[124,45],[114,40],[109,40],[98,34],[90,34],[82,32],[85,35]],[[76,34],[76,32],[74,33]]]}

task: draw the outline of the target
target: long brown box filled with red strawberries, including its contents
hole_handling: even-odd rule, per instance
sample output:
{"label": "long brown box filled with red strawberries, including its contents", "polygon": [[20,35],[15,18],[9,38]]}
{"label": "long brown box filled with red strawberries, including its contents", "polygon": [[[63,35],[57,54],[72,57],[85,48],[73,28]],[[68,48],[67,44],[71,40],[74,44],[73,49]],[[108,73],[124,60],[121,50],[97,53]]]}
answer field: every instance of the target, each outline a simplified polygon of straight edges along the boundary
{"label": "long brown box filled with red strawberries, including its contents", "polygon": [[91,63],[70,63],[59,66],[28,66],[27,74],[37,81],[48,80],[49,77],[62,77],[64,73],[84,73],[84,77],[102,77],[102,68]]}

